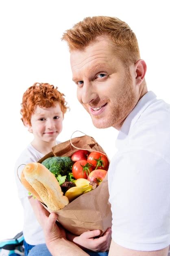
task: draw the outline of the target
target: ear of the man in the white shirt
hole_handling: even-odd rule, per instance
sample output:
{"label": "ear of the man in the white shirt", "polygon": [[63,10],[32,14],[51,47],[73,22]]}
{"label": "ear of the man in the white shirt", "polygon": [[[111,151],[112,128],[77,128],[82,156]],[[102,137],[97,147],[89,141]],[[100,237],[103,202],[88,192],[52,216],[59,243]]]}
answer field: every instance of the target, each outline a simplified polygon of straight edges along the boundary
{"label": "ear of the man in the white shirt", "polygon": [[142,81],[144,80],[145,74],[146,74],[146,63],[144,60],[139,59],[135,63],[135,79],[136,79],[136,85],[140,85]]}

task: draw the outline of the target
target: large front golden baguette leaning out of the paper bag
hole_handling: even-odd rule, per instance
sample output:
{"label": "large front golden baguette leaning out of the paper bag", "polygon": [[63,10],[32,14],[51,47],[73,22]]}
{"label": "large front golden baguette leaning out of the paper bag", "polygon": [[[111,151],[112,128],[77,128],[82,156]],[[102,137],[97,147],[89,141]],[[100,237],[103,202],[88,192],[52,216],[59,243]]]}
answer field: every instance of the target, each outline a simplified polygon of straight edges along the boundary
{"label": "large front golden baguette leaning out of the paper bag", "polygon": [[[59,182],[43,164],[27,164],[22,172],[25,180],[39,195],[41,199],[40,202],[44,202],[44,204],[46,204],[48,209],[51,211],[58,211],[69,203],[68,198],[64,196],[63,192],[61,191]],[[23,182],[23,180],[21,181],[26,187],[26,183]]]}

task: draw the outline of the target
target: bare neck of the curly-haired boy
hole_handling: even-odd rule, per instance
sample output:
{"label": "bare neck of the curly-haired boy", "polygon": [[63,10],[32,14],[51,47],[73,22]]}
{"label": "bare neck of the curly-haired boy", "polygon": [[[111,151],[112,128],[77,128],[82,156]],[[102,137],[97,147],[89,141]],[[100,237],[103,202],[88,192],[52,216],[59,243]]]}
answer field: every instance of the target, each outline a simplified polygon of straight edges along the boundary
{"label": "bare neck of the curly-haired boy", "polygon": [[43,155],[46,155],[52,151],[52,147],[56,146],[56,140],[51,142],[46,142],[42,140],[33,139],[31,145],[38,150]]}

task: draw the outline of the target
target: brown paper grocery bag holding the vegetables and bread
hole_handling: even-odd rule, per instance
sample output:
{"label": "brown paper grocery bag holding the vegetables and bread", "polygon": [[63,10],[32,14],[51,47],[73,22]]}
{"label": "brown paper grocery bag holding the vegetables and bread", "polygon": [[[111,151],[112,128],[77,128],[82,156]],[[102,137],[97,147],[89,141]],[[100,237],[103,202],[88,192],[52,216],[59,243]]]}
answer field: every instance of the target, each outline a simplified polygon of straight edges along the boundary
{"label": "brown paper grocery bag holding the vegetables and bread", "polygon": [[[105,153],[94,138],[87,135],[73,138],[71,142],[77,148]],[[71,157],[77,151],[72,144],[69,140],[54,146],[52,152],[41,158],[39,162],[41,163],[44,159],[54,155]],[[108,200],[109,191],[106,176],[96,189],[79,196],[63,209],[57,211],[58,221],[65,229],[78,236],[85,231],[94,229],[100,229],[102,235],[108,227],[111,227],[111,206]]]}

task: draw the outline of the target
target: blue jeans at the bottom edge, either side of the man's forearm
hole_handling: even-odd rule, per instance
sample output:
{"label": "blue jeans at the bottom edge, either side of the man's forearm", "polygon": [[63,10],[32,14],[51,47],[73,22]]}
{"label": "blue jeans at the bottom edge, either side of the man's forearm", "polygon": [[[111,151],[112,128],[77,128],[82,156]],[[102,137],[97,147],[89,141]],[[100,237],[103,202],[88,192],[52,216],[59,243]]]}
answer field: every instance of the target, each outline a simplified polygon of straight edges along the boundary
{"label": "blue jeans at the bottom edge, either side of the man's forearm", "polygon": [[[108,252],[90,252],[85,251],[90,256],[108,256]],[[52,256],[50,252],[48,251],[46,244],[41,245],[35,245],[30,252],[28,253],[28,256]]]}

